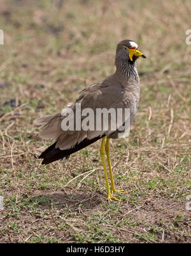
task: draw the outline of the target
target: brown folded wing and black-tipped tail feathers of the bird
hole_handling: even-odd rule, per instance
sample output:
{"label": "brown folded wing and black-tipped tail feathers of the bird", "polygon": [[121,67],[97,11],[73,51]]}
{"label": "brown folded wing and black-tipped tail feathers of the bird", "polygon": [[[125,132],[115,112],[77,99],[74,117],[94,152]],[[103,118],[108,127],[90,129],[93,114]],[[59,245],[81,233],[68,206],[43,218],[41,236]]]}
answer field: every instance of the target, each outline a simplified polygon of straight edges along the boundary
{"label": "brown folded wing and black-tipped tail feathers of the bird", "polygon": [[[112,75],[103,82],[89,85],[83,89],[75,103],[81,103],[81,110],[91,108],[94,113],[97,108],[124,108],[125,93],[122,94],[123,91],[121,83]],[[73,109],[75,115],[75,104],[71,103],[68,107]],[[62,113],[58,113],[34,120],[34,124],[41,125],[43,128],[39,134],[41,138],[55,139],[55,143],[41,153],[39,158],[43,159],[42,164],[68,157],[71,153],[77,152],[111,133],[110,129],[108,131],[105,129],[102,131],[63,131],[61,123],[64,118]],[[74,121],[74,127],[75,125]]]}

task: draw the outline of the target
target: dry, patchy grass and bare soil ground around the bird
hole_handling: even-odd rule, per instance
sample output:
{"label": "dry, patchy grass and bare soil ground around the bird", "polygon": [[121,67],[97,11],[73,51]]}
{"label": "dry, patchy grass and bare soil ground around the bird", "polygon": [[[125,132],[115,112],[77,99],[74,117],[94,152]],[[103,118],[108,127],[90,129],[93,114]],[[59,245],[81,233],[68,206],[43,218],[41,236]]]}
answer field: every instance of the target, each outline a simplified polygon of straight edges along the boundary
{"label": "dry, patchy grass and bare soil ground around the bird", "polygon": [[[190,243],[190,1],[58,2],[0,7],[1,243]],[[138,60],[141,101],[130,137],[111,148],[127,201],[108,203],[99,142],[41,166],[35,155],[49,142],[32,121],[110,75],[125,38],[147,59]]]}

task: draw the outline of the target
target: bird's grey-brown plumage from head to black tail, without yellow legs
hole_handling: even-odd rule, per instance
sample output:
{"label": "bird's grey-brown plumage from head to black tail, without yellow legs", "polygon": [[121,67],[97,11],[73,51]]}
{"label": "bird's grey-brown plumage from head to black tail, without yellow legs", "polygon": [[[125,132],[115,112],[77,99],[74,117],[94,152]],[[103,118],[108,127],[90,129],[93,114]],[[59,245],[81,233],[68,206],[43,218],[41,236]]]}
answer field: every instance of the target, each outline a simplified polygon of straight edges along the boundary
{"label": "bird's grey-brown plumage from head to black tail, without yellow legs", "polygon": [[[138,51],[138,45],[131,40],[118,43],[115,57],[116,71],[103,82],[89,85],[80,92],[75,103],[81,103],[84,108],[129,108],[130,123],[136,115],[139,103],[139,76],[136,68],[136,59],[145,57]],[[71,108],[75,113],[75,103]],[[34,124],[41,125],[43,129],[39,136],[43,139],[53,139],[55,143],[41,153],[42,164],[48,164],[58,159],[68,158],[72,153],[88,146],[98,139],[108,136],[117,138],[118,130],[102,131],[63,131],[61,122],[65,118],[61,113],[52,116],[39,117]],[[81,118],[83,120],[83,118]],[[124,120],[125,121],[125,120]]]}

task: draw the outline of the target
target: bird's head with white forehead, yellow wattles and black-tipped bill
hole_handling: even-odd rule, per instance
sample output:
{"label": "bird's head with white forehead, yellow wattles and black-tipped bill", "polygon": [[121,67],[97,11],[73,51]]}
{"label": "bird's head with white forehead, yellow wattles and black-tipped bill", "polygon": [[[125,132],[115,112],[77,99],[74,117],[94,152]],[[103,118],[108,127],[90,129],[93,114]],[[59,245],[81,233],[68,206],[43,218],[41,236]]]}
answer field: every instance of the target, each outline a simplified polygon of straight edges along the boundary
{"label": "bird's head with white forehead, yellow wattles and black-tipped bill", "polygon": [[131,62],[138,59],[138,57],[146,58],[143,53],[139,52],[138,44],[128,39],[118,43],[116,55],[121,57],[129,57]]}

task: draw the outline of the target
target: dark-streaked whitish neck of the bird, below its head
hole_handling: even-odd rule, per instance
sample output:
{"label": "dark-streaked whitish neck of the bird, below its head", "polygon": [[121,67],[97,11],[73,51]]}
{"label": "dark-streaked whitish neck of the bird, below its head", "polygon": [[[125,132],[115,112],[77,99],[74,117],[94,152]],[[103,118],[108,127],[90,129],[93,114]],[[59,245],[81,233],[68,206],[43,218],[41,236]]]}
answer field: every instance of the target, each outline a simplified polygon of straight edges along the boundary
{"label": "dark-streaked whitish neck of the bird, below its head", "polygon": [[131,78],[139,81],[138,69],[135,60],[131,61],[129,58],[122,56],[116,57],[115,66],[116,73],[118,73],[118,75],[122,75],[127,79]]}

